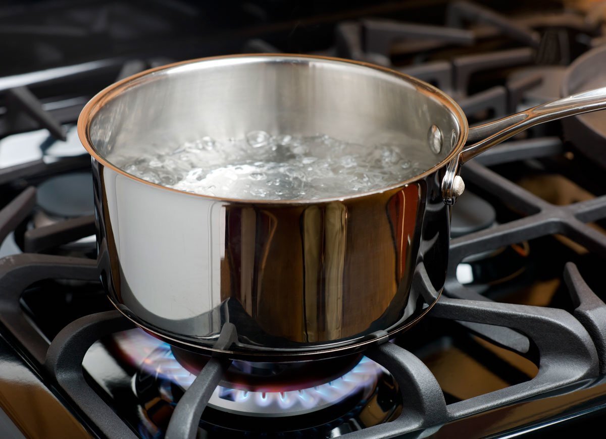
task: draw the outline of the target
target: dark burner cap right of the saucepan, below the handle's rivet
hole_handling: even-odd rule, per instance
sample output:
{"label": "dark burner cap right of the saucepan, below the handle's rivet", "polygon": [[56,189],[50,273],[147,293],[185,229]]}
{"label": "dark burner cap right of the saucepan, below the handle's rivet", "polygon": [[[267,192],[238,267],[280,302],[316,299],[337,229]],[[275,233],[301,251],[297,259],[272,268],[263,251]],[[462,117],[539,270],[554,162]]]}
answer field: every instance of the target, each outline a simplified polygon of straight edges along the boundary
{"label": "dark burner cap right of the saucepan, below the handle's rivet", "polygon": [[450,236],[453,238],[487,229],[494,224],[496,212],[493,206],[476,194],[465,191],[453,208]]}

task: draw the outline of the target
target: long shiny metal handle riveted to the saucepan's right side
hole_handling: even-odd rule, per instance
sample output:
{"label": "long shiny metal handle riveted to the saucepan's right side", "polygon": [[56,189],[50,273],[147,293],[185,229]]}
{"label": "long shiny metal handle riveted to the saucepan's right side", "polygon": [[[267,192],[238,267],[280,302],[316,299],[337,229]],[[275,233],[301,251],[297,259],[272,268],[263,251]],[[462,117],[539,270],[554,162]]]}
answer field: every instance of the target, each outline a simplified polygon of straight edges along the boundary
{"label": "long shiny metal handle riveted to the saucepan's right side", "polygon": [[465,147],[448,163],[444,180],[442,180],[444,203],[453,205],[456,197],[463,193],[465,185],[459,176],[461,165],[479,153],[534,125],[574,116],[574,114],[604,109],[606,109],[606,87],[563,97],[557,101],[547,102],[547,104],[528,108],[520,113],[470,128]]}

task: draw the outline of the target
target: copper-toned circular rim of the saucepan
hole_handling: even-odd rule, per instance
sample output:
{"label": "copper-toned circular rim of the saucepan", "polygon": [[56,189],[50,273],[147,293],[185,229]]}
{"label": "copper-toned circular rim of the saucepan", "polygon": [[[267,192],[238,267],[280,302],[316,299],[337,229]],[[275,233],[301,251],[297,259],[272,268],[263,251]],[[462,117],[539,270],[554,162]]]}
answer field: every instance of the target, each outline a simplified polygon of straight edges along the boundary
{"label": "copper-toned circular rim of the saucepan", "polygon": [[[409,179],[402,180],[401,182],[394,183],[389,186],[383,186],[383,187],[375,189],[375,190],[351,194],[348,196],[326,197],[326,198],[322,198],[322,199],[311,199],[311,200],[306,200],[306,199],[303,199],[303,200],[299,200],[299,199],[297,199],[297,200],[251,199],[250,200],[250,199],[241,199],[241,198],[216,197],[216,196],[197,194],[197,193],[191,193],[191,192],[182,191],[182,190],[178,190],[178,189],[168,188],[167,186],[162,186],[162,185],[159,185],[158,183],[151,183],[151,182],[148,182],[147,180],[133,176],[132,174],[127,173],[126,171],[122,170],[121,168],[116,167],[116,165],[113,165],[113,163],[108,162],[108,160],[105,159],[105,157],[102,157],[101,154],[99,154],[96,151],[95,147],[93,146],[93,142],[89,136],[89,128],[90,128],[92,120],[95,118],[98,111],[101,110],[101,108],[105,104],[112,101],[112,99],[114,99],[116,96],[118,96],[121,93],[124,93],[125,91],[128,90],[128,88],[135,85],[133,83],[136,80],[138,80],[139,78],[142,78],[143,76],[149,76],[158,71],[170,70],[172,68],[181,67],[181,66],[187,65],[187,64],[198,64],[198,63],[206,62],[206,61],[215,61],[215,60],[219,60],[219,59],[230,59],[230,58],[259,58],[259,59],[262,59],[262,58],[267,58],[267,57],[282,58],[282,59],[304,58],[304,59],[316,59],[316,60],[320,60],[320,61],[342,62],[345,64],[358,65],[361,67],[367,67],[367,68],[371,68],[373,70],[381,71],[383,73],[391,74],[392,76],[395,76],[396,78],[402,79],[410,84],[413,84],[415,86],[415,88],[417,90],[419,90],[421,93],[424,93],[427,96],[431,96],[431,97],[437,99],[439,102],[441,102],[441,104],[443,104],[445,107],[448,108],[448,110],[451,111],[451,114],[453,114],[453,116],[457,119],[460,130],[461,130],[459,133],[459,138],[457,139],[457,143],[456,143],[456,145],[454,145],[454,147],[451,148],[451,151],[448,154],[448,156],[446,156],[444,159],[442,159],[441,162],[437,163],[436,165],[433,165],[433,167],[429,168],[428,170],[425,170],[423,173],[413,176]],[[80,141],[82,142],[82,145],[84,146],[85,150],[88,152],[88,154],[90,154],[90,156],[92,156],[92,158],[94,160],[101,163],[104,167],[108,167],[108,168],[112,169],[113,171],[115,171],[116,173],[122,174],[123,176],[127,177],[128,179],[135,180],[139,183],[144,183],[145,185],[154,186],[161,190],[168,190],[168,191],[173,191],[175,193],[184,194],[186,196],[201,197],[202,199],[214,200],[214,201],[219,201],[219,202],[246,203],[246,204],[255,204],[255,205],[318,204],[318,203],[325,203],[325,202],[334,202],[334,201],[343,201],[343,200],[349,200],[349,199],[362,198],[362,197],[366,197],[366,196],[370,196],[370,195],[374,195],[374,194],[380,194],[380,193],[384,193],[386,191],[401,188],[410,183],[424,179],[425,177],[429,176],[430,174],[434,173],[435,171],[439,170],[440,168],[445,167],[451,160],[453,160],[455,157],[457,157],[459,155],[459,153],[461,153],[463,147],[465,146],[465,141],[467,140],[467,134],[468,134],[467,117],[465,117],[465,113],[463,112],[461,107],[459,107],[459,105],[456,102],[454,102],[454,100],[450,96],[448,96],[448,94],[444,93],[444,91],[440,90],[439,88],[434,87],[431,84],[428,84],[427,82],[421,81],[420,79],[416,79],[413,76],[410,76],[405,73],[401,73],[401,72],[393,70],[391,68],[382,67],[380,65],[371,64],[369,62],[353,61],[350,59],[335,58],[335,57],[331,57],[331,56],[316,56],[316,55],[288,54],[288,53],[253,53],[253,54],[246,53],[246,54],[210,56],[210,57],[206,57],[206,58],[190,59],[190,60],[186,60],[186,61],[179,61],[179,62],[174,62],[171,64],[161,65],[161,66],[155,67],[155,68],[150,68],[148,70],[144,70],[139,73],[133,74],[132,76],[128,76],[128,78],[124,78],[121,81],[115,82],[114,84],[109,85],[108,87],[105,87],[103,90],[99,91],[99,93],[95,94],[95,96],[93,96],[92,99],[90,99],[90,101],[87,102],[87,104],[82,109],[80,116],[78,117],[78,137],[79,137]]]}

